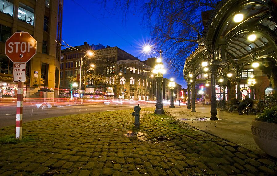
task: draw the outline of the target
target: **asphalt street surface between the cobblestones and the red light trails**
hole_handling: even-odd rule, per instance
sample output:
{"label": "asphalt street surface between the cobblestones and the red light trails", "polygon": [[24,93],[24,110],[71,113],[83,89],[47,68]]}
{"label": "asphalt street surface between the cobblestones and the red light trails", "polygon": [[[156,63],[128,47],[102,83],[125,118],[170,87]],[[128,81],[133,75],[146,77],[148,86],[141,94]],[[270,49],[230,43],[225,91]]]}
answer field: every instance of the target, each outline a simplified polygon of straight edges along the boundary
{"label": "asphalt street surface between the cobblestones and the red light trails", "polygon": [[[24,106],[24,104],[23,104]],[[93,112],[103,112],[109,110],[126,110],[133,109],[136,104],[91,104],[86,106],[63,106],[63,107],[52,107],[50,109],[36,109],[33,107],[23,108],[23,123],[30,122],[34,120],[41,120],[45,118],[73,115],[73,114],[86,114]],[[140,104],[141,108],[153,107],[155,108],[155,103],[150,104]],[[0,128],[6,126],[15,125],[16,122],[16,106],[0,106]],[[130,114],[131,115],[131,114]]]}

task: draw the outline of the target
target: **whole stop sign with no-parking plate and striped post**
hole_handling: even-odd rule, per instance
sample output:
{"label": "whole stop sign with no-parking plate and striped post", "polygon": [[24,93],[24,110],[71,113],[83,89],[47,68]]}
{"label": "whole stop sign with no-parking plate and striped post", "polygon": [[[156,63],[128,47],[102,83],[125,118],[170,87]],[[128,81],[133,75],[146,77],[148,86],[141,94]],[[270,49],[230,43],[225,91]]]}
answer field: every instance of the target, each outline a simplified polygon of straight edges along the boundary
{"label": "whole stop sign with no-parking plate and striped post", "polygon": [[37,53],[37,41],[28,32],[16,32],[5,43],[5,54],[12,62],[13,81],[18,82],[15,138],[22,139],[23,85],[26,81],[26,62]]}

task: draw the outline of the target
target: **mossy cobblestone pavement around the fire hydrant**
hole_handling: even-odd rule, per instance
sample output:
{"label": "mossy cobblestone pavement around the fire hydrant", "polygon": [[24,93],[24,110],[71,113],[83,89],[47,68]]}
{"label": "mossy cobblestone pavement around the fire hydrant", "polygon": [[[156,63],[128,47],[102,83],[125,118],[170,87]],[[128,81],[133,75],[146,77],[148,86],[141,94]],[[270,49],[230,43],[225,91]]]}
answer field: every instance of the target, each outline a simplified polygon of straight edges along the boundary
{"label": "mossy cobblestone pavement around the fire hydrant", "polygon": [[[263,158],[168,114],[133,110],[49,118],[23,124],[27,142],[0,144],[0,175],[277,175]],[[0,138],[15,126],[0,129]],[[168,141],[154,138],[167,136]]]}

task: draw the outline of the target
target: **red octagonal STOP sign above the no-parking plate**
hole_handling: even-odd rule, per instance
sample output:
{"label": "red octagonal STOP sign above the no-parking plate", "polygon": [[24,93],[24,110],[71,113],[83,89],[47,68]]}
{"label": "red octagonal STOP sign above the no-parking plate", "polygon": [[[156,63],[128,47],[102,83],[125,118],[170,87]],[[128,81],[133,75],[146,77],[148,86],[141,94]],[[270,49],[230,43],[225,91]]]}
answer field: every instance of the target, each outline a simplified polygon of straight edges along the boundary
{"label": "red octagonal STOP sign above the no-parking plate", "polygon": [[6,40],[5,54],[13,62],[28,62],[37,53],[37,41],[28,32],[16,32]]}

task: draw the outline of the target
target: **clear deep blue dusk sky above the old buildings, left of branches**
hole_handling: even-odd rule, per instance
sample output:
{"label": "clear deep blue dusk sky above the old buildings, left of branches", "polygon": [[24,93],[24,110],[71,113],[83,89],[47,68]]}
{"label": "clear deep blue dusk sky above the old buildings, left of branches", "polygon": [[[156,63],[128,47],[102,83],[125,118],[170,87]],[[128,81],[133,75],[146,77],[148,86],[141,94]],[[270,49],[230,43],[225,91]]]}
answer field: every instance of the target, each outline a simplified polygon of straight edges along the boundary
{"label": "clear deep blue dusk sky above the old buildings, left of branches", "polygon": [[[98,43],[104,46],[117,46],[141,61],[149,57],[159,57],[155,50],[143,52],[143,46],[151,38],[149,29],[142,25],[142,15],[131,12],[126,20],[122,16],[104,14],[100,4],[94,1],[66,0],[63,5],[62,40],[70,46],[89,45]],[[65,43],[62,42],[63,45]],[[65,47],[62,47],[64,49]],[[170,79],[170,70],[164,74]],[[176,78],[174,78],[176,79]],[[182,78],[176,81],[184,88]]]}

